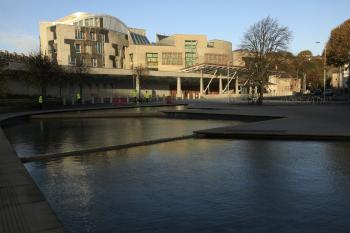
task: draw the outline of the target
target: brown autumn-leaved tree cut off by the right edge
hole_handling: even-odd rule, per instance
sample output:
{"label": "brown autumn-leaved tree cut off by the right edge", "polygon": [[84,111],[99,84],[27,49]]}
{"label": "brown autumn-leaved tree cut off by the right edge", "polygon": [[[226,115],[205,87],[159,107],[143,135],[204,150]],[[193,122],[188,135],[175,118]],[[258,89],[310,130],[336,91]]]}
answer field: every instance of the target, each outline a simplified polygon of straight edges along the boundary
{"label": "brown autumn-leaved tree cut off by the right edge", "polygon": [[329,65],[340,67],[349,63],[350,19],[332,30],[326,46]]}

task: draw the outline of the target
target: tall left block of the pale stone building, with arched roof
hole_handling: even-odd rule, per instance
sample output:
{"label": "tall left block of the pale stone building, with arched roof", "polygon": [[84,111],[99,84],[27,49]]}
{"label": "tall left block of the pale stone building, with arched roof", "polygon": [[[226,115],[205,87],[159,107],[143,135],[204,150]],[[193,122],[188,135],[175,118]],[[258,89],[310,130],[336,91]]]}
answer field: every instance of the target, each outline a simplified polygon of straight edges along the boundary
{"label": "tall left block of the pale stone building, with arched roof", "polygon": [[40,23],[40,49],[59,65],[124,67],[128,27],[103,14],[77,12],[54,22]]}

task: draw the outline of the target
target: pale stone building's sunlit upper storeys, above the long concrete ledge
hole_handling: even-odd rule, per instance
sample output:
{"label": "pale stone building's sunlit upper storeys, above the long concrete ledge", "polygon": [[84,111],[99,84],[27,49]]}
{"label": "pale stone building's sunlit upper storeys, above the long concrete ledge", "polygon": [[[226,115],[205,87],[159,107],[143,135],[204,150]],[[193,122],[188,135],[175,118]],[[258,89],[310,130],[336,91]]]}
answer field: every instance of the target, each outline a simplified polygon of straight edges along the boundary
{"label": "pale stone building's sunlit upper storeys, above the long concrete ledge", "polygon": [[157,35],[150,43],[143,29],[128,28],[104,14],[77,12],[40,23],[40,48],[60,65],[180,71],[198,63],[226,65],[232,44],[205,35]]}

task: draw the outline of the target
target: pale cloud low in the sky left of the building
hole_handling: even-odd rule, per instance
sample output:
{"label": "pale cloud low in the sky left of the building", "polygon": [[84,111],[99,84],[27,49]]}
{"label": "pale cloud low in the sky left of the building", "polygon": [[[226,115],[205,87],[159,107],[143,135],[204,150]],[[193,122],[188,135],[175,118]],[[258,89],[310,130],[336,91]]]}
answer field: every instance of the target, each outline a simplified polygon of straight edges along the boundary
{"label": "pale cloud low in the sky left of the building", "polygon": [[21,32],[0,32],[0,50],[9,52],[30,53],[39,50],[39,37]]}

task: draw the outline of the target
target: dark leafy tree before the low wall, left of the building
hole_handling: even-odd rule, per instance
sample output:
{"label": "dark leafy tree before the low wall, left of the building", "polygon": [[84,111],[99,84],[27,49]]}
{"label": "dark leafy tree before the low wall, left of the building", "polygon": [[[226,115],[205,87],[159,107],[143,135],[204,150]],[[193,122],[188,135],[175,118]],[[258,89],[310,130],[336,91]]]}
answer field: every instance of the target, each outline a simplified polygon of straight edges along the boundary
{"label": "dark leafy tree before the low wall, left of the building", "polygon": [[56,84],[62,69],[56,61],[52,61],[41,52],[29,55],[27,60],[30,81],[40,87],[41,95],[46,97],[47,87]]}

